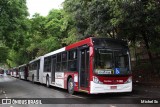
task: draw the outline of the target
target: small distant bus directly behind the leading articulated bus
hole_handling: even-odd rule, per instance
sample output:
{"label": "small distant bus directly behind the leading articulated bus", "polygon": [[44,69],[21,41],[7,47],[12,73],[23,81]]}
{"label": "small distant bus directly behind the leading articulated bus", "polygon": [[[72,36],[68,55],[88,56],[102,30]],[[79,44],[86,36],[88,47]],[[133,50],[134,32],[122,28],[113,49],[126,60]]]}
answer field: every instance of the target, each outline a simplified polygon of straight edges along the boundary
{"label": "small distant bus directly behind the leading articulated bus", "polygon": [[19,66],[19,78],[27,80],[28,77],[28,65],[23,64]]}

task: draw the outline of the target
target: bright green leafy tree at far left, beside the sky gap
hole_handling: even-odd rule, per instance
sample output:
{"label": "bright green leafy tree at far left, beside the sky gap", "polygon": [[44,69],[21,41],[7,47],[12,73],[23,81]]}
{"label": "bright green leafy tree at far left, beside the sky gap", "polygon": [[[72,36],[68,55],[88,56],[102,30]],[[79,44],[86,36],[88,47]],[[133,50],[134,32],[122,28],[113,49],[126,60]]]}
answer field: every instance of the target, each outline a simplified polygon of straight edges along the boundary
{"label": "bright green leafy tree at far left, beside the sky gap", "polygon": [[28,30],[27,16],[26,0],[0,0],[0,42],[3,46],[0,49],[3,53],[1,62],[8,62],[6,60],[10,56],[10,51],[19,53],[24,45]]}

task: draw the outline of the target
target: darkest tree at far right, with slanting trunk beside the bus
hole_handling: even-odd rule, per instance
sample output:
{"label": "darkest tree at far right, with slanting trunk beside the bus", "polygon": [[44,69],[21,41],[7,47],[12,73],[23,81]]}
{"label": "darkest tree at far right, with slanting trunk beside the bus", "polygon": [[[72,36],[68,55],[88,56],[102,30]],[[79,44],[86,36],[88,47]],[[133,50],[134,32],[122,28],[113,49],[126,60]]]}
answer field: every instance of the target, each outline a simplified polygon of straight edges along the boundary
{"label": "darkest tree at far right, with slanting trunk beside the bus", "polygon": [[[151,65],[154,67],[154,61],[151,53],[153,44],[160,38],[160,6],[159,1],[153,0],[130,0],[120,2],[117,6],[121,19],[117,24],[119,26],[118,35],[135,43],[141,41],[145,44]],[[118,16],[117,13],[114,14]]]}

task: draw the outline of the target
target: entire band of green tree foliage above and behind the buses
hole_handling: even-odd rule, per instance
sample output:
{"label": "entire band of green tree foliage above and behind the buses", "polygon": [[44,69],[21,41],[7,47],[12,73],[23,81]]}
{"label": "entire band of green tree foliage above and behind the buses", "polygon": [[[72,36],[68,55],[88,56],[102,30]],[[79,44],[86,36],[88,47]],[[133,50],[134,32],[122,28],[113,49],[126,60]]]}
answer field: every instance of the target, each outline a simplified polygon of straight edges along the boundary
{"label": "entire band of green tree foliage above and behind the buses", "polygon": [[63,9],[28,19],[26,0],[0,0],[0,46],[6,53],[1,62],[17,66],[89,36],[127,40],[133,49],[144,43],[152,59],[160,54],[159,5],[158,0],[65,0]]}

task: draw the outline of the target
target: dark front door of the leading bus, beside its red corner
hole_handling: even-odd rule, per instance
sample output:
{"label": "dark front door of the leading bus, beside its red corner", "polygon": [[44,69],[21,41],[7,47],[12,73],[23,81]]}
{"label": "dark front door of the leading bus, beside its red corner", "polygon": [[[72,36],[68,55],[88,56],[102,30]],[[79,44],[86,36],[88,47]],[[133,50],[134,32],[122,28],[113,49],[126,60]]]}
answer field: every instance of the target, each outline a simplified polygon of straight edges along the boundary
{"label": "dark front door of the leading bus, beside its red corner", "polygon": [[89,85],[89,47],[79,51],[79,79],[79,88],[87,90]]}

